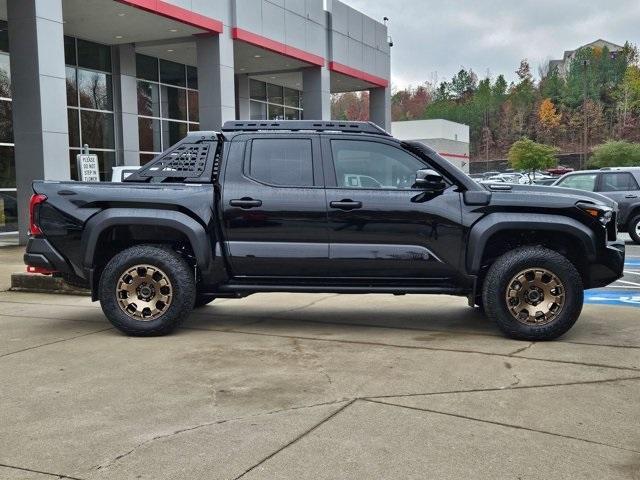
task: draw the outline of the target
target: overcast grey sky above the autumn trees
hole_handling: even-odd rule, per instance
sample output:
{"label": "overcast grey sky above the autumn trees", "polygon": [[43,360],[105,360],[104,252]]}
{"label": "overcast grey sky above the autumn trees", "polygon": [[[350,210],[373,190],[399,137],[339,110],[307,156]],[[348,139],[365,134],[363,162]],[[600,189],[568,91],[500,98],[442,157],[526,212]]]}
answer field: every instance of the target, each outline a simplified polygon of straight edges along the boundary
{"label": "overcast grey sky above the autumn trees", "polygon": [[394,86],[450,79],[461,66],[513,80],[522,58],[538,65],[604,38],[640,42],[639,0],[344,0],[391,19]]}

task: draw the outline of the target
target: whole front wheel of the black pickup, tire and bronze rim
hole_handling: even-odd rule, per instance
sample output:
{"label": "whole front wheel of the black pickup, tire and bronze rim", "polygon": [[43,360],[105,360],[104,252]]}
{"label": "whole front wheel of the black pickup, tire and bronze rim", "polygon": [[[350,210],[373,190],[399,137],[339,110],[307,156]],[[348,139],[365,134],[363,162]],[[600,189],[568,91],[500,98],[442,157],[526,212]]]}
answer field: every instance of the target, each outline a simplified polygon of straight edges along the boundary
{"label": "whole front wheel of the black pickup, tire and bronze rim", "polygon": [[491,265],[482,297],[487,316],[508,337],[553,340],[578,319],[584,290],[565,257],[543,247],[522,247]]}

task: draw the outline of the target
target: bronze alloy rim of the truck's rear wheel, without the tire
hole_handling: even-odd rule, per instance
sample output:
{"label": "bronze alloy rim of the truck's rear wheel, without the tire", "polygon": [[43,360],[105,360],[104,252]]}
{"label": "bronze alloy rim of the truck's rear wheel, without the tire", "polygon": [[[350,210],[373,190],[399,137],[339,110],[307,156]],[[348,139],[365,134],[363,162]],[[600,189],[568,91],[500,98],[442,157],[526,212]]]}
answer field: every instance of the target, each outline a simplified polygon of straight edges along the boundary
{"label": "bronze alloy rim of the truck's rear wheel, without the tire", "polygon": [[116,298],[124,313],[148,322],[160,317],[171,305],[173,287],[167,274],[153,265],[135,265],[116,285]]}

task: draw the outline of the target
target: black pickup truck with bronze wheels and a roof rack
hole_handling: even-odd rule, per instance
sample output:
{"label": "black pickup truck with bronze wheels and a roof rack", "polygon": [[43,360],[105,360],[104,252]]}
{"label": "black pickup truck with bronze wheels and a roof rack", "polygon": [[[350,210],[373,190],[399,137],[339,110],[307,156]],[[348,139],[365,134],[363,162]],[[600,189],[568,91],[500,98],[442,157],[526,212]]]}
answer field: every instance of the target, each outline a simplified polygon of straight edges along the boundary
{"label": "black pickup truck with bronze wheels and a roof rack", "polygon": [[130,335],[168,333],[220,297],[432,293],[547,340],[624,264],[615,202],[482,186],[371,123],[228,122],[122,183],[33,190],[28,270],[86,283]]}

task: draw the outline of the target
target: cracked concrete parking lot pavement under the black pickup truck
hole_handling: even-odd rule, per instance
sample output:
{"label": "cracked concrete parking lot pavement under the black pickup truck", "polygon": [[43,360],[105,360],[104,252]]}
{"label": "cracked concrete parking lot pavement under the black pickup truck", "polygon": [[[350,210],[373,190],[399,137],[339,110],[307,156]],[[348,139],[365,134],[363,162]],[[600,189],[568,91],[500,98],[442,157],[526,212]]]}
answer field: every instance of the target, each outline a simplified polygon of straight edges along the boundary
{"label": "cracked concrete parking lot pavement under the black pickup truck", "polygon": [[0,478],[638,479],[628,253],[548,343],[446,296],[260,294],[128,338],[88,298],[2,292]]}

